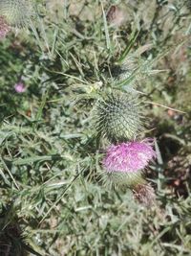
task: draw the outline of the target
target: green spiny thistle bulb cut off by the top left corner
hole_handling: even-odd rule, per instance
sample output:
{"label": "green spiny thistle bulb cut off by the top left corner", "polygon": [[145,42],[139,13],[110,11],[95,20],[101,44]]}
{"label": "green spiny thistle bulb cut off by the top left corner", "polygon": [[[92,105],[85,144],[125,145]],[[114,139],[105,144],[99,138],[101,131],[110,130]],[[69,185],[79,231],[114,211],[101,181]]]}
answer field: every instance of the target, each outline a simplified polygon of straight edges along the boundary
{"label": "green spiny thistle bulb cut off by the top left corner", "polygon": [[12,27],[26,27],[32,16],[30,0],[0,0],[0,11]]}

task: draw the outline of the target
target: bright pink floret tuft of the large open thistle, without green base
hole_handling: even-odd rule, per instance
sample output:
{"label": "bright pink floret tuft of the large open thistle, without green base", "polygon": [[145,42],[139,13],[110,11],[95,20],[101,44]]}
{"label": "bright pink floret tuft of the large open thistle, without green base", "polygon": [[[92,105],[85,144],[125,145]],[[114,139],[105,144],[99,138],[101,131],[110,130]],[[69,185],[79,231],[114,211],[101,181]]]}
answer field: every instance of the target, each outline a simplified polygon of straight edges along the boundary
{"label": "bright pink floret tuft of the large open thistle, without green base", "polygon": [[137,173],[144,169],[156,152],[152,148],[152,142],[128,142],[112,145],[103,160],[103,166],[108,173]]}

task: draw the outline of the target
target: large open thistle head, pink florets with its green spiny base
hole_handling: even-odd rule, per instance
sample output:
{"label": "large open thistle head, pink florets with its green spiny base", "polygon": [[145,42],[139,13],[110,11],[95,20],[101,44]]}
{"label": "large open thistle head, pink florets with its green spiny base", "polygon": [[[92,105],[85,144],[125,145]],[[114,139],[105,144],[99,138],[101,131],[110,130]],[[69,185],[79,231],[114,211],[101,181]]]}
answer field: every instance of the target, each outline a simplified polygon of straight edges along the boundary
{"label": "large open thistle head, pink florets with its green spiny base", "polygon": [[103,159],[105,178],[108,177],[109,183],[114,185],[134,187],[142,183],[142,171],[155,157],[156,152],[149,139],[112,145]]}

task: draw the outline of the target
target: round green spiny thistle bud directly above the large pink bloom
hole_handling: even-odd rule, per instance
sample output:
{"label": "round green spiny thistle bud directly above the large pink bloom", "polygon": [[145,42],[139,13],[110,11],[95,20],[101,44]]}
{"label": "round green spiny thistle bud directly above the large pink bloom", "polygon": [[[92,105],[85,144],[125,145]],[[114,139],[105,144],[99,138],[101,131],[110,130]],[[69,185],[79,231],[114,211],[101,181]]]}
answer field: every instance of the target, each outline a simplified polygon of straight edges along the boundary
{"label": "round green spiny thistle bud directly above the large pink bloom", "polygon": [[110,94],[98,102],[96,129],[112,142],[134,139],[142,128],[136,99],[124,94]]}

